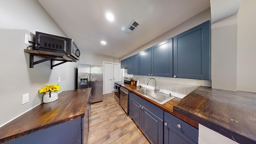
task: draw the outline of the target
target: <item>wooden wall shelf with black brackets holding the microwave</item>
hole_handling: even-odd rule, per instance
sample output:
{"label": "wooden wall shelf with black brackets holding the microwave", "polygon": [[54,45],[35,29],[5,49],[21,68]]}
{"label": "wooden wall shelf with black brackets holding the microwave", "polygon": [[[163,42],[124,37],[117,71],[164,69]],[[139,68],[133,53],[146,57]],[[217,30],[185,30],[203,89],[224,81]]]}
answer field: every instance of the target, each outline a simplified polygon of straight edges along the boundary
{"label": "wooden wall shelf with black brackets holding the microwave", "polygon": [[[28,49],[24,49],[24,52],[29,53],[30,68],[34,68],[35,64],[39,64],[41,62],[45,62],[48,60],[51,60],[51,69],[53,69],[54,66],[64,64],[65,62],[76,62],[76,60],[74,60],[73,58],[70,58],[67,54],[62,54],[62,53],[46,52],[41,50],[28,50]],[[44,59],[34,62],[34,56],[41,56],[41,57],[44,57]],[[54,60],[63,61],[63,62],[60,62],[58,64],[53,64]]]}

